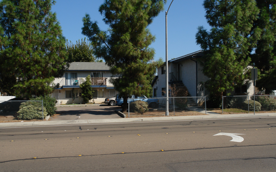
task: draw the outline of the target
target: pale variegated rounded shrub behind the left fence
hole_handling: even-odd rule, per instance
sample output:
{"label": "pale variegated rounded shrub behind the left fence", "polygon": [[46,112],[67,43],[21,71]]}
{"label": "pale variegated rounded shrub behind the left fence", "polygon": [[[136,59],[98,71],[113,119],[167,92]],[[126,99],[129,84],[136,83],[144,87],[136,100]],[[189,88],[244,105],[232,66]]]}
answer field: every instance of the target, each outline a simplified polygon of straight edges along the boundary
{"label": "pale variegated rounded shrub behind the left fence", "polygon": [[[17,112],[19,120],[32,120],[42,119],[42,105],[41,102],[37,101],[26,101],[21,103],[19,111]],[[43,107],[44,119],[47,116],[47,110]]]}

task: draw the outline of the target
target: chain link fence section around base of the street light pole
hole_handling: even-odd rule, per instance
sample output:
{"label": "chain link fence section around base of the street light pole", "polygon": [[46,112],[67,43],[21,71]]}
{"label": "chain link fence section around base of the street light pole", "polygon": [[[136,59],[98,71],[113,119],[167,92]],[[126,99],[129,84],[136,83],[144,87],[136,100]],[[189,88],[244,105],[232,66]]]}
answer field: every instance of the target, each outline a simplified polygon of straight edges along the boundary
{"label": "chain link fence section around base of the street light pole", "polygon": [[[180,115],[187,112],[206,114],[205,97],[169,97],[169,114]],[[166,98],[128,99],[128,117],[137,115],[165,115]]]}

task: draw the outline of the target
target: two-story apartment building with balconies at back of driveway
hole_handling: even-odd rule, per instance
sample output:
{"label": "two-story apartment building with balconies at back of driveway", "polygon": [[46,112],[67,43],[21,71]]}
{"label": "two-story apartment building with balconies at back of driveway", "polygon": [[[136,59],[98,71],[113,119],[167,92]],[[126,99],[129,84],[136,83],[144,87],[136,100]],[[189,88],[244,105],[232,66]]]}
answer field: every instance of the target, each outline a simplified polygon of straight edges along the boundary
{"label": "two-story apartment building with balconies at back of driveway", "polygon": [[91,102],[102,103],[105,98],[115,96],[118,92],[110,82],[112,73],[105,62],[72,62],[62,77],[55,78],[57,85],[53,97],[58,104],[83,103],[79,85],[91,76],[91,87],[94,90]]}

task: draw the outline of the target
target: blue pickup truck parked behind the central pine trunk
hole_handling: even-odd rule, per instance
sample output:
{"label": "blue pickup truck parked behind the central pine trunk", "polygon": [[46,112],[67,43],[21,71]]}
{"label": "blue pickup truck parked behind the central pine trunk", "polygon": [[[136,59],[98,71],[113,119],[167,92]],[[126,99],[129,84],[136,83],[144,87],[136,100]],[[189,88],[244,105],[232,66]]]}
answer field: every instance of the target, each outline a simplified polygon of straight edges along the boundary
{"label": "blue pickup truck parked behind the central pine trunk", "polygon": [[[159,101],[158,99],[155,99],[155,98],[147,98],[146,96],[144,95],[141,95],[141,96],[135,96],[135,95],[132,95],[132,96],[128,96],[129,98],[129,101],[130,103],[133,102],[133,101],[137,101],[137,100],[142,100],[142,101],[145,101],[148,103],[148,107],[150,108],[156,108],[158,107],[158,104],[159,104]],[[116,95],[116,102],[115,102],[115,105],[116,106],[123,106],[123,101],[124,101],[124,97],[122,94],[117,94]],[[128,102],[129,103],[129,102]]]}

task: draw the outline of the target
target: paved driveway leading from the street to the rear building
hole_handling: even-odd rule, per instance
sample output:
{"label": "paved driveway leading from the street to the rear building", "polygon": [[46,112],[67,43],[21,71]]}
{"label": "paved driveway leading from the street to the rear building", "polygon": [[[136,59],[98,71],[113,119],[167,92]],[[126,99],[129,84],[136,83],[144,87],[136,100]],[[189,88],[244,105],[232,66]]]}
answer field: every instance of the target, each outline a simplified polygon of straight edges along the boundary
{"label": "paved driveway leading from the street to the rear building", "polygon": [[49,120],[79,120],[79,119],[114,119],[121,118],[115,111],[120,111],[120,106],[107,104],[93,105],[58,105],[57,115]]}

